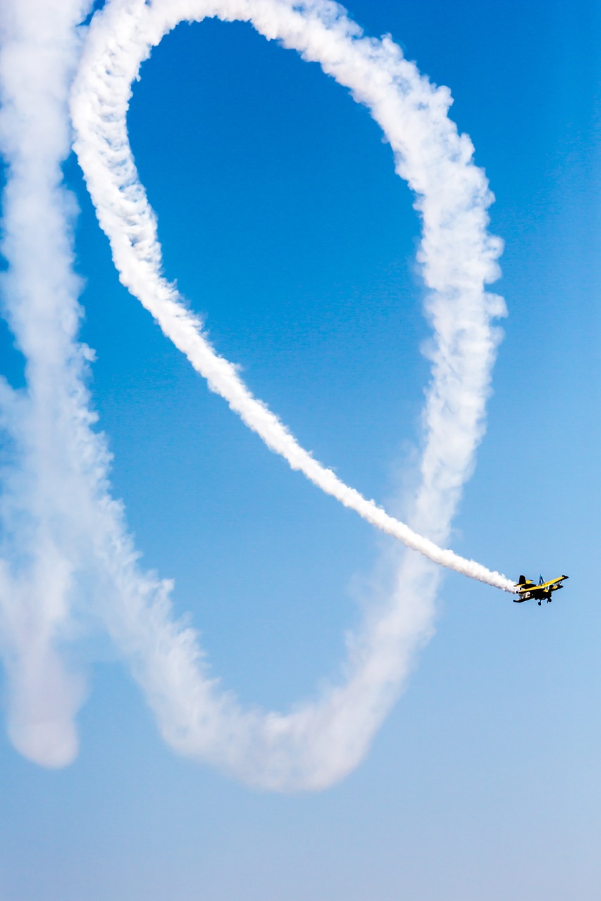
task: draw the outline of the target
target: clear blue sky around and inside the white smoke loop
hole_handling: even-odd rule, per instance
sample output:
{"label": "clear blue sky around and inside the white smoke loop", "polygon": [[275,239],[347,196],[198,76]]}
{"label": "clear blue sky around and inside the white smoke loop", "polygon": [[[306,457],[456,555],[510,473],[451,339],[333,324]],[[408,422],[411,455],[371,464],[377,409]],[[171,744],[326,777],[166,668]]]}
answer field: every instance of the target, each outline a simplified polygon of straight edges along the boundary
{"label": "clear blue sky around and inside the white smoke loop", "polygon": [[[449,574],[437,633],[362,766],[251,792],[173,755],[116,653],[88,648],[79,759],[3,740],[0,899],[593,899],[601,881],[599,14],[593,3],[357,2],[450,86],[505,241],[488,431],[451,544],[553,605]],[[428,379],[419,222],[390,148],[315,65],[239,24],[180,26],[129,115],[166,274],[305,446],[394,503]],[[82,336],[144,562],[176,579],[224,686],[286,707],[335,672],[384,545],[245,430],[122,288],[74,159]],[[5,371],[19,360],[5,341]]]}

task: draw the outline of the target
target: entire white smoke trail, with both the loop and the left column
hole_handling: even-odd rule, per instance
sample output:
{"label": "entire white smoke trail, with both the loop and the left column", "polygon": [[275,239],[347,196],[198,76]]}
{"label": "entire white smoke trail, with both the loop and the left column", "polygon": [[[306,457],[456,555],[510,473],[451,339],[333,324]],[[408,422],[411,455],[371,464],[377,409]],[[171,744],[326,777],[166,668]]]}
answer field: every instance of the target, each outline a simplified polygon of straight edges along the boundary
{"label": "entire white smoke trail, with both the loop and the left column", "polygon": [[[12,275],[5,294],[28,378],[24,393],[6,385],[0,390],[2,424],[14,442],[0,506],[0,651],[12,684],[13,741],[47,765],[75,753],[72,718],[81,683],[69,676],[59,642],[73,639],[82,614],[92,615],[131,660],[174,748],[257,786],[325,787],[361,760],[400,692],[414,651],[430,637],[440,570],[423,557],[405,555],[386,604],[374,605],[363,631],[349,640],[345,680],[314,703],[291,714],[245,711],[217,689],[195,633],[173,621],[170,583],[144,574],[136,562],[121,506],[109,495],[106,448],[91,430],[94,418],[83,386],[89,352],[75,341],[78,285],[60,187],[68,133],[64,98],[77,56],[73,24],[83,9],[75,0],[11,0],[6,10],[1,127],[11,168],[3,250]],[[448,122],[448,95],[421,79],[391,41],[365,41],[336,5],[256,0],[151,6],[110,0],[90,31],[74,99],[79,152],[97,202],[101,194],[102,223],[126,283],[140,288],[153,312],[160,311],[184,350],[202,350],[212,386],[234,391],[231,405],[270,437],[270,446],[285,451],[292,465],[308,469],[343,502],[350,499],[393,529],[406,527],[319,467],[248,394],[231,365],[200,341],[197,323],[160,278],[153,216],[127,145],[129,84],[150,44],[180,17],[201,14],[252,18],[267,36],[319,59],[370,106],[393,144],[397,168],[418,192],[437,350],[412,522],[444,541],[483,430],[495,356],[490,320],[502,311],[483,292],[484,282],[495,278],[499,250],[485,234],[490,196],[471,164],[471,145]],[[31,77],[23,78],[23,70]],[[94,127],[108,129],[100,157],[109,166],[98,159],[96,145],[83,146],[87,105]],[[103,117],[106,123],[99,124]],[[92,129],[93,140],[99,133]]]}

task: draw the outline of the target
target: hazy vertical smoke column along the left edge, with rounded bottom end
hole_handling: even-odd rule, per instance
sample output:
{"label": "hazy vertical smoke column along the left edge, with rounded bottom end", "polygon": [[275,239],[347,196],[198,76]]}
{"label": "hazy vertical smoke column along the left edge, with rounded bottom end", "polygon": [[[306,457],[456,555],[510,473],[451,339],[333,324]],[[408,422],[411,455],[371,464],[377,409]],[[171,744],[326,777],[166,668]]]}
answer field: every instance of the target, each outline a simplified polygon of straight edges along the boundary
{"label": "hazy vertical smoke column along the left edge, with rounded bottom end", "polygon": [[[75,343],[79,280],[72,271],[72,198],[61,187],[69,153],[69,85],[84,0],[0,6],[0,149],[7,164],[2,252],[5,315],[27,360],[26,390],[0,382],[0,651],[8,727],[32,760],[60,766],[77,752],[82,682],[61,660],[73,556],[57,539],[74,457],[89,414]],[[62,447],[62,451],[60,451]],[[64,492],[64,493],[63,493]],[[64,536],[67,537],[66,535]]]}

